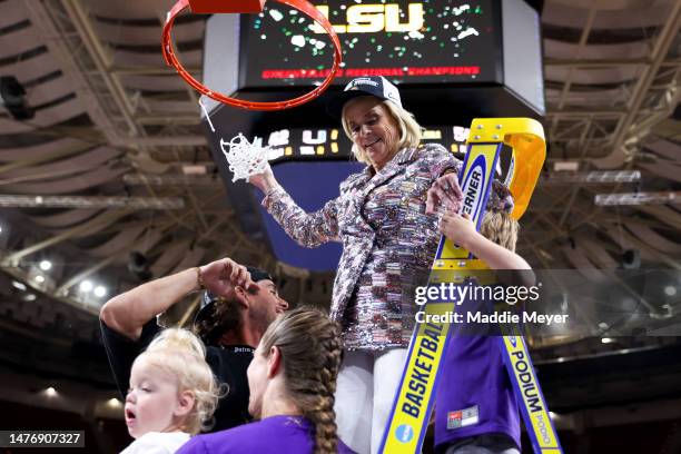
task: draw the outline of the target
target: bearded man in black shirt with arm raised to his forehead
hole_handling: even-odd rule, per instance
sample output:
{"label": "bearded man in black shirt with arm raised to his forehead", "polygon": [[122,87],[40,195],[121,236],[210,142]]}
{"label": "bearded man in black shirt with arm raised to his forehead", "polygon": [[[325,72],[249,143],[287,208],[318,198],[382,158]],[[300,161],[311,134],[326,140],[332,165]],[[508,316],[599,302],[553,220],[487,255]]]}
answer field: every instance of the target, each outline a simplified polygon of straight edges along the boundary
{"label": "bearded man in black shirt with arm raised to his forehead", "polygon": [[132,362],[161,330],[157,316],[198,290],[206,292],[195,330],[206,343],[206,362],[218,382],[227,385],[213,426],[221,431],[250,420],[246,371],[269,324],[288,308],[267,272],[223,258],[151,280],[102,306],[101,333],[125,397]]}

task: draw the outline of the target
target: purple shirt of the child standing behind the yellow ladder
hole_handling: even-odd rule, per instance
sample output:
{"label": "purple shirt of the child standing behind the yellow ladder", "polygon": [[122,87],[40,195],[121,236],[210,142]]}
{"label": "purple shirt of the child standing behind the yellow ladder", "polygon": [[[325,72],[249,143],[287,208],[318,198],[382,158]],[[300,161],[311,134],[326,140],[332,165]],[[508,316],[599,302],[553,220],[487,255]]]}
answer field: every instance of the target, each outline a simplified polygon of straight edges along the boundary
{"label": "purple shirt of the child standing behind the yellow ladder", "polygon": [[520,448],[520,415],[496,336],[453,336],[435,392],[435,446],[501,433]]}

